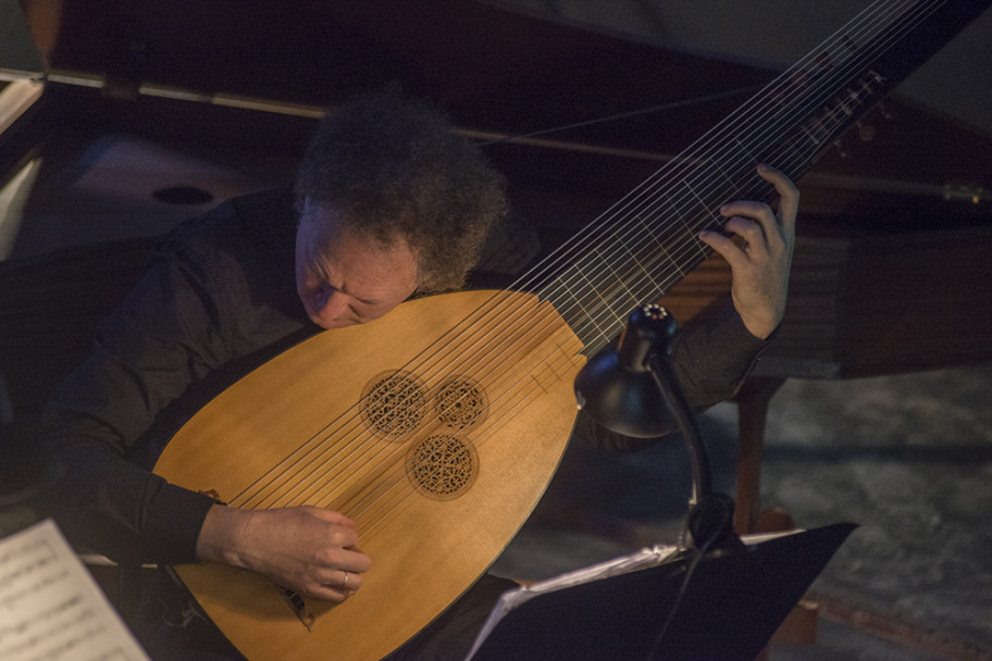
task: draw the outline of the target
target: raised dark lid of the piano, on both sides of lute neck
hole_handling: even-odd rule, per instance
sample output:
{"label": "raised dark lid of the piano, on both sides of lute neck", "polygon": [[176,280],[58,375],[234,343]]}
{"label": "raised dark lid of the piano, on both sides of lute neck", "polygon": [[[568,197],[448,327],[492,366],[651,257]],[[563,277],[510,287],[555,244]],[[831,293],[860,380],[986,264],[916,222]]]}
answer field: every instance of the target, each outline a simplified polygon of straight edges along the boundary
{"label": "raised dark lid of the piano, on both sides of lute neck", "polygon": [[[261,100],[270,110],[313,114],[399,83],[467,128],[522,135],[572,126],[544,137],[622,148],[648,161],[620,177],[620,187],[653,170],[653,159],[681,151],[777,73],[463,0],[22,4],[49,72],[95,76],[110,96],[193,92],[185,98]],[[805,202],[833,214],[860,203],[835,190],[987,197],[990,147],[989,136],[893,99],[817,165],[804,182]]]}

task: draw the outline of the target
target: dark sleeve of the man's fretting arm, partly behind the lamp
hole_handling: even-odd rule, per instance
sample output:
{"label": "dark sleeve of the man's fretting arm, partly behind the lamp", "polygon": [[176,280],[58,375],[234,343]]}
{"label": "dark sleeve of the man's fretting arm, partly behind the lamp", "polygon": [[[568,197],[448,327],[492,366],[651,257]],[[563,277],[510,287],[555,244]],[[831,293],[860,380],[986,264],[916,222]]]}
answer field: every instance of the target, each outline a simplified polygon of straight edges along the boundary
{"label": "dark sleeve of the man's fretting arm, partly behind the lamp", "polygon": [[[671,357],[690,406],[702,412],[733,397],[771,341],[752,335],[730,301],[693,320],[675,337]],[[636,451],[677,434],[674,421],[672,425],[670,432],[658,437],[632,438],[603,427],[580,411],[575,435],[603,448]]]}

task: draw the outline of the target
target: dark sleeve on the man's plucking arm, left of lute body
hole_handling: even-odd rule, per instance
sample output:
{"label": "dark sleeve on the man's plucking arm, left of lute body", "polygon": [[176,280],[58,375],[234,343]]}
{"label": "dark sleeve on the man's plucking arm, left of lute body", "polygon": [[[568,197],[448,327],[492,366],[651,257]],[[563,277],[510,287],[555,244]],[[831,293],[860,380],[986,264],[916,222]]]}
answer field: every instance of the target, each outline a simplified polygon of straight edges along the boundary
{"label": "dark sleeve on the man's plucking arm, left of lute body", "polygon": [[59,477],[46,504],[79,547],[117,561],[195,559],[213,501],[129,456],[170,403],[224,360],[212,275],[160,247],[49,402],[39,434]]}

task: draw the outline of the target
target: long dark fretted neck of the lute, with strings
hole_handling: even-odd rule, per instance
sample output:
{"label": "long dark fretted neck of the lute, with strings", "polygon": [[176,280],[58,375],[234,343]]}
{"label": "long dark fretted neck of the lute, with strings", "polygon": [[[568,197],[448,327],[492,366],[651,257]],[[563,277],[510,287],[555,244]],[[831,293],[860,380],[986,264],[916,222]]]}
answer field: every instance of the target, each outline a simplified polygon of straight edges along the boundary
{"label": "long dark fretted neck of the lute, with strings", "polygon": [[634,307],[667,292],[708,257],[697,236],[723,230],[721,204],[773,200],[758,163],[798,179],[989,4],[876,2],[532,269],[518,288],[551,302],[587,354],[599,350]]}

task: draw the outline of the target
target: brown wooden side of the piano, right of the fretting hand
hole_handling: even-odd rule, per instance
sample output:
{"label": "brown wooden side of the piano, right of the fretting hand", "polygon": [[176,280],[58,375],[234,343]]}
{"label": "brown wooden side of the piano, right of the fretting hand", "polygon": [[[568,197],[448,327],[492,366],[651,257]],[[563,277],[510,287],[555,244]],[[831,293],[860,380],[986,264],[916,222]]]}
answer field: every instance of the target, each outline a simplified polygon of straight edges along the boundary
{"label": "brown wooden side of the piano, right of the fretting hand", "polygon": [[853,378],[992,358],[992,225],[803,238],[761,376]]}

